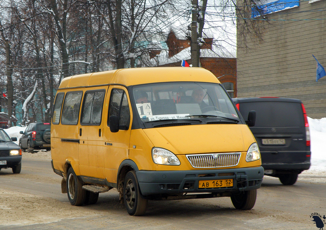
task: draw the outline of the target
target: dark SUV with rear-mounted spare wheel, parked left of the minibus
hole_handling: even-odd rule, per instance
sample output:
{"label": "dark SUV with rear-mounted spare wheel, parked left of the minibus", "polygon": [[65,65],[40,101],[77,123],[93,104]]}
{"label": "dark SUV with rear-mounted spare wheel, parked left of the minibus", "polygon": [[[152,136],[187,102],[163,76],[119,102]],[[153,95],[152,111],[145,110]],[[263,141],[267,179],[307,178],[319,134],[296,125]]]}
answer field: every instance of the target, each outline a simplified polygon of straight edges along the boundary
{"label": "dark SUV with rear-mounted spare wheel, parked left of the minibus", "polygon": [[31,123],[20,134],[23,134],[19,139],[22,151],[27,149],[29,153],[34,153],[34,150],[39,149],[51,150],[50,123]]}

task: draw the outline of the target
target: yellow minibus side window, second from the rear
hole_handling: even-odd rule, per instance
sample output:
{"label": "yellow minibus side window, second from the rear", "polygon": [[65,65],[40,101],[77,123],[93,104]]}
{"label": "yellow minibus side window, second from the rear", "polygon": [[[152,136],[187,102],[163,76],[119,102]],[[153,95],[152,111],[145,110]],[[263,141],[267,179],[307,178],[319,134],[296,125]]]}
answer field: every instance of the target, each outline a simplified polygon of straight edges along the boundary
{"label": "yellow minibus side window, second from the rear", "polygon": [[63,102],[61,124],[77,125],[82,91],[67,92]]}

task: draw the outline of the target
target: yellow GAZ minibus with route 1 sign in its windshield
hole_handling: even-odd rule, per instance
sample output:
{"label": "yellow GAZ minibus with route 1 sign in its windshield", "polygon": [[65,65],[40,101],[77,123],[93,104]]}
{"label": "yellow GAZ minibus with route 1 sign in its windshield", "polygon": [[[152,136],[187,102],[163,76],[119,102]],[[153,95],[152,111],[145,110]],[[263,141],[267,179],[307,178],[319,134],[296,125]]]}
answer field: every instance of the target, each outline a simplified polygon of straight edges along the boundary
{"label": "yellow GAZ minibus with route 1 sign in its windshield", "polygon": [[252,209],[264,169],[248,125],[208,70],[131,68],[66,77],[51,125],[53,171],[72,205],[115,188],[130,215],[148,200],[229,196]]}

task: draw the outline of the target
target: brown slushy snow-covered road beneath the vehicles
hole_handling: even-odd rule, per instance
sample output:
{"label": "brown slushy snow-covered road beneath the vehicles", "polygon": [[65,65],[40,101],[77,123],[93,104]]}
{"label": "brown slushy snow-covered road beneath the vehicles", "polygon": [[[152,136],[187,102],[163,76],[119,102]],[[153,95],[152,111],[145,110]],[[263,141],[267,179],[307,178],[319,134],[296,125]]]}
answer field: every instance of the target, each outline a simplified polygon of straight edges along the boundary
{"label": "brown slushy snow-covered road beneath the vehicles", "polygon": [[149,201],[146,215],[132,217],[114,189],[95,205],[71,206],[50,152],[24,153],[21,174],[0,171],[0,229],[316,229],[311,213],[326,215],[326,176],[316,172],[292,186],[264,177],[253,210],[235,210],[228,197]]}

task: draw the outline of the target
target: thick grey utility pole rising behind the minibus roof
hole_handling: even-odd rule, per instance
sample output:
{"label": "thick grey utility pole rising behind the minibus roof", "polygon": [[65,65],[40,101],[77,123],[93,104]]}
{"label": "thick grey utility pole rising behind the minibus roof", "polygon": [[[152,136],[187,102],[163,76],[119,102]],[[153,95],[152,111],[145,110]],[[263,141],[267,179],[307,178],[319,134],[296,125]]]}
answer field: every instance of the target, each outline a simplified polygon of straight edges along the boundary
{"label": "thick grey utility pole rising behind the minibus roof", "polygon": [[199,46],[198,46],[198,28],[197,28],[197,13],[198,0],[192,0],[192,22],[191,22],[191,64],[192,67],[199,67]]}

